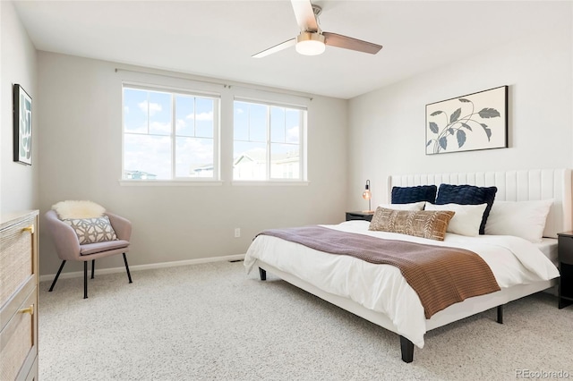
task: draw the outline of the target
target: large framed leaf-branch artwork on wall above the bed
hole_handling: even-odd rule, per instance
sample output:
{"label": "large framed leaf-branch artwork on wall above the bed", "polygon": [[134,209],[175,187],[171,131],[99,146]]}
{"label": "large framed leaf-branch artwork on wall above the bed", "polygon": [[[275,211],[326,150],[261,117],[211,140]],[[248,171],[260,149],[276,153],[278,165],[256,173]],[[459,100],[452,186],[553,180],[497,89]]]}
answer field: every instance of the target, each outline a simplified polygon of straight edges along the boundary
{"label": "large framed leaf-branch artwork on wall above the bed", "polygon": [[426,155],[508,148],[508,86],[426,105]]}

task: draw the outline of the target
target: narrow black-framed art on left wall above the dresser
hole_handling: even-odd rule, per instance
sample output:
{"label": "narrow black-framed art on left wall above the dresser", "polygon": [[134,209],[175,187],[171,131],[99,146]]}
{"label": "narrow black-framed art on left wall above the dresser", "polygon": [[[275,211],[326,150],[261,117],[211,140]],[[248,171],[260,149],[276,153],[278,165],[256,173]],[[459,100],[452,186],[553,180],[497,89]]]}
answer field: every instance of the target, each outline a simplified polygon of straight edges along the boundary
{"label": "narrow black-framed art on left wall above the dresser", "polygon": [[14,161],[32,165],[32,98],[15,84],[13,87]]}

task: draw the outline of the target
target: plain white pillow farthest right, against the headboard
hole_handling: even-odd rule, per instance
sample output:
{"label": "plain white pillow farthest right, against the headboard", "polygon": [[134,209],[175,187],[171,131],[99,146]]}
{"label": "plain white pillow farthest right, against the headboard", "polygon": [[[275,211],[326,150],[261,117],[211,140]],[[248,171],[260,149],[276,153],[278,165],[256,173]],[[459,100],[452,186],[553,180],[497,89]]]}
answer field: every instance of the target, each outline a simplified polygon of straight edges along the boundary
{"label": "plain white pillow farthest right, against the headboard", "polygon": [[495,201],[485,224],[485,233],[515,235],[541,242],[553,199],[538,201]]}

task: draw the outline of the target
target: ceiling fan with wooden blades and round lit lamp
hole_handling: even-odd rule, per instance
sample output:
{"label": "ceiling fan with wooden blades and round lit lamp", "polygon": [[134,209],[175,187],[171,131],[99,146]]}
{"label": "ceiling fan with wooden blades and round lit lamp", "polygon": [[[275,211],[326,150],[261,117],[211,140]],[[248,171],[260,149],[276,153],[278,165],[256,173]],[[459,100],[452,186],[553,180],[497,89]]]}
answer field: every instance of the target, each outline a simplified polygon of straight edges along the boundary
{"label": "ceiling fan with wooden blades and round lit lamp", "polygon": [[320,55],[324,52],[327,45],[329,47],[343,47],[371,55],[375,55],[382,48],[381,45],[372,44],[372,42],[363,41],[362,39],[322,31],[317,21],[317,16],[321,14],[322,9],[319,5],[311,4],[310,0],[291,0],[291,4],[295,11],[296,23],[301,30],[300,34],[295,38],[288,39],[274,47],[269,47],[256,55],[252,55],[252,57],[261,58],[272,55],[292,46],[295,46],[296,51],[301,55]]}

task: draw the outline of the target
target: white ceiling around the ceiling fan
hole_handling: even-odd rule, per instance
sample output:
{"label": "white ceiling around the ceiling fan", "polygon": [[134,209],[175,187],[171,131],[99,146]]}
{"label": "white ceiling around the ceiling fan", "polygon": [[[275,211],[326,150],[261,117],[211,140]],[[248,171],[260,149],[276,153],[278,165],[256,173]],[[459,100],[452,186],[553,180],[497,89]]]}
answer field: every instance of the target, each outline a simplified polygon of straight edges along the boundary
{"label": "white ceiling around the ceiling fan", "polygon": [[[571,20],[570,1],[326,1],[321,29],[378,55],[294,47],[290,1],[15,1],[38,50],[350,98]],[[567,22],[567,21],[566,21]]]}

